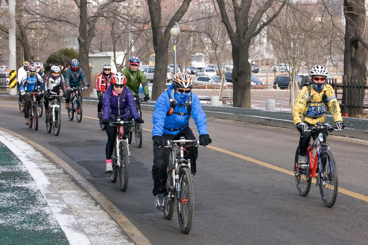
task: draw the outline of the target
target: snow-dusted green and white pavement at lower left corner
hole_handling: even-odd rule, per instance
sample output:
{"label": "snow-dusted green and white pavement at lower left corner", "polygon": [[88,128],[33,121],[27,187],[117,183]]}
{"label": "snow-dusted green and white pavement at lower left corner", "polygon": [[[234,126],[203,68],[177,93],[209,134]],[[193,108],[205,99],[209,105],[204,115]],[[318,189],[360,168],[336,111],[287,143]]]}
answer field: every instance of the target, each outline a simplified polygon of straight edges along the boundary
{"label": "snow-dusted green and white pavement at lower left corner", "polygon": [[134,244],[63,168],[0,130],[0,244]]}

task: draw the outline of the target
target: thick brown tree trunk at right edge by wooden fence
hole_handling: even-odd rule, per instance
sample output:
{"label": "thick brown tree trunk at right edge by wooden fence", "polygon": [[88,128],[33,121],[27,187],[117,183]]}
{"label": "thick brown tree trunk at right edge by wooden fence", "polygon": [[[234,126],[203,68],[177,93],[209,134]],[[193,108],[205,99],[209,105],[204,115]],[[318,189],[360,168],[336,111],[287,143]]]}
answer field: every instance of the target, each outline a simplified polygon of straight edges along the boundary
{"label": "thick brown tree trunk at right edge by wooden fence", "polygon": [[[365,36],[365,1],[356,0],[344,1],[344,15],[345,15],[345,50],[344,50],[344,75],[348,80],[351,80],[351,85],[360,85],[361,83],[367,83],[367,77],[365,76],[366,67],[366,48],[361,42],[356,41],[357,36]],[[365,81],[365,82],[362,82]],[[344,81],[346,82],[346,81]],[[364,103],[364,89],[359,93],[358,91],[350,88],[347,90],[347,98],[343,93],[343,102],[347,99],[347,105],[353,104],[353,100],[360,103]],[[357,117],[361,112],[357,108],[346,107],[346,110],[342,108],[344,113],[348,113],[350,117]]]}

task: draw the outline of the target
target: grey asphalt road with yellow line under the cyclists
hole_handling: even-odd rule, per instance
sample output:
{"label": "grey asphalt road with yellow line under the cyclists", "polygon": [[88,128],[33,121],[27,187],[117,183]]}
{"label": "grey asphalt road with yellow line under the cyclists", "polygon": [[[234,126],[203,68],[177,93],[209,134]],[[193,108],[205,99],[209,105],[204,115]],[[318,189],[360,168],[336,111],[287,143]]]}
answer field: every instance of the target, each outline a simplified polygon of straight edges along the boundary
{"label": "grey asphalt road with yellow line under the cyclists", "polygon": [[168,221],[155,207],[151,112],[143,113],[142,148],[134,142],[130,147],[126,192],[104,173],[107,136],[98,125],[95,106],[83,107],[81,123],[62,114],[59,136],[47,134],[44,123],[38,131],[29,129],[15,101],[1,100],[0,112],[0,127],[32,139],[70,164],[152,244],[368,243],[367,143],[328,138],[340,190],[348,193],[339,192],[335,206],[328,208],[313,184],[307,197],[298,194],[291,172],[296,131],[209,119],[212,148],[199,148],[194,224],[184,235],[176,213]]}

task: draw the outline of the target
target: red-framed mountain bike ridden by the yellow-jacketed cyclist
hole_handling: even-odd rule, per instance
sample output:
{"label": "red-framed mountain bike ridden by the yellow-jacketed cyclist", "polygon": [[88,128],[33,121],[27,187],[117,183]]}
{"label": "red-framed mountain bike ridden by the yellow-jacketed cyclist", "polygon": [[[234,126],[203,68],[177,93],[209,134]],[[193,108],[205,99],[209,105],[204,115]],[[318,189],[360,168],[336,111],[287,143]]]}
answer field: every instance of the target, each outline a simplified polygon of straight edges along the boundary
{"label": "red-framed mountain bike ridden by the yellow-jacketed cyclist", "polygon": [[311,189],[312,178],[316,178],[316,186],[319,186],[319,192],[323,203],[327,207],[335,204],[337,190],[339,189],[339,180],[335,159],[330,151],[330,146],[326,143],[328,132],[336,128],[328,123],[318,122],[317,125],[309,127],[313,132],[318,133],[318,137],[312,143],[309,142],[307,150],[307,168],[299,169],[299,146],[295,153],[294,175],[298,192],[301,196],[307,196]]}

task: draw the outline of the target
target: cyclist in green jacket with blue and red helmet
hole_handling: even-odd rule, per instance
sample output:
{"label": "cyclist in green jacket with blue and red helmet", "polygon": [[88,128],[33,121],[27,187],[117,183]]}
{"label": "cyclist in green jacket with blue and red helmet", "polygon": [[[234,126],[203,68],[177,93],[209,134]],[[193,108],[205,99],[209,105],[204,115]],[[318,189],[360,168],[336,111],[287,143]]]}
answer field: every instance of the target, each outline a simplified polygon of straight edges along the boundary
{"label": "cyclist in green jacket with blue and red helmet", "polygon": [[137,109],[141,109],[141,103],[139,103],[139,85],[142,84],[144,97],[143,100],[146,102],[149,100],[149,90],[147,84],[147,78],[144,73],[138,69],[139,62],[141,60],[137,56],[132,56],[129,58],[129,68],[125,68],[121,73],[127,78],[127,83],[125,84],[132,92],[137,104]]}

